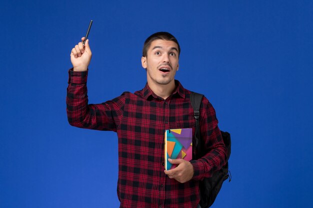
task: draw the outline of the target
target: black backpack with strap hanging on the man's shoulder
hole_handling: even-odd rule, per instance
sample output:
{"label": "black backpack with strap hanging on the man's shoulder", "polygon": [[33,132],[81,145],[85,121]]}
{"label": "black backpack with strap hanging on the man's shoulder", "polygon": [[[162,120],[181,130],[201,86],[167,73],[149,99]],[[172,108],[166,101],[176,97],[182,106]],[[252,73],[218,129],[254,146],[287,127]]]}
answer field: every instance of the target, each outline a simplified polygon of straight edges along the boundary
{"label": "black backpack with strap hanging on the man's shoulder", "polygon": [[[191,92],[190,102],[194,112],[195,118],[195,132],[194,132],[194,142],[195,148],[197,150],[197,155],[195,159],[201,158],[205,152],[201,148],[201,138],[199,131],[199,116],[200,116],[200,105],[203,95]],[[224,144],[227,148],[227,158],[226,164],[219,170],[213,173],[212,177],[205,178],[199,183],[200,190],[200,206],[201,208],[209,208],[215,201],[216,196],[221,188],[223,182],[229,178],[231,180],[230,172],[228,171],[228,159],[230,156],[230,134],[228,132],[221,132]]]}

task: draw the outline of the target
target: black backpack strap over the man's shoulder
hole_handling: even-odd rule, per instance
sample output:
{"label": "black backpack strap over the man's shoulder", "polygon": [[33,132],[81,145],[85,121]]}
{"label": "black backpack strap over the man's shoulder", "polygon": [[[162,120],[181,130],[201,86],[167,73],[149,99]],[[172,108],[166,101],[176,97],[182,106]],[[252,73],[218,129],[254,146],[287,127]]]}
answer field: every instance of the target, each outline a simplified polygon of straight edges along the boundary
{"label": "black backpack strap over the man's shoulder", "polygon": [[[190,103],[193,108],[193,116],[195,119],[195,131],[194,131],[194,142],[195,142],[195,149],[200,150],[200,145],[199,145],[199,139],[200,138],[200,126],[199,126],[199,118],[200,118],[200,106],[202,102],[202,94],[196,93],[196,92],[191,92],[190,94]],[[197,151],[199,153],[199,151]]]}

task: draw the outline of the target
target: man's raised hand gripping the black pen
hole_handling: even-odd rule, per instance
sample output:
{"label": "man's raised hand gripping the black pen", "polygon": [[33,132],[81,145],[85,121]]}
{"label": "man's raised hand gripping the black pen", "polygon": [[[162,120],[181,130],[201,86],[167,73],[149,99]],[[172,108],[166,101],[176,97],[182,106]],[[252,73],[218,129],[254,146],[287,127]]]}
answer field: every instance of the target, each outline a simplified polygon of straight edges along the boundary
{"label": "man's raised hand gripping the black pen", "polygon": [[83,46],[82,42],[84,39],[85,37],[82,37],[81,42],[75,45],[70,51],[70,61],[74,71],[86,71],[91,60],[89,40],[87,39]]}

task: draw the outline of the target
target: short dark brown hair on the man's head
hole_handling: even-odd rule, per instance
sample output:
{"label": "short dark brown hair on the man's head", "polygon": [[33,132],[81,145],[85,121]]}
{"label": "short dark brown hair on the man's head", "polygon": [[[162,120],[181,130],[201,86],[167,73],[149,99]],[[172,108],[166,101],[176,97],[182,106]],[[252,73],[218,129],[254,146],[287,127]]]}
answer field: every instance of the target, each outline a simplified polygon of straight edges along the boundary
{"label": "short dark brown hair on the man's head", "polygon": [[178,57],[179,57],[179,54],[180,54],[179,43],[178,43],[177,39],[172,34],[170,34],[169,32],[155,32],[154,34],[151,34],[148,38],[146,38],[146,40],[143,43],[143,48],[142,48],[142,56],[143,57],[146,57],[147,51],[151,45],[151,42],[153,40],[159,40],[159,39],[174,41],[178,46]]}

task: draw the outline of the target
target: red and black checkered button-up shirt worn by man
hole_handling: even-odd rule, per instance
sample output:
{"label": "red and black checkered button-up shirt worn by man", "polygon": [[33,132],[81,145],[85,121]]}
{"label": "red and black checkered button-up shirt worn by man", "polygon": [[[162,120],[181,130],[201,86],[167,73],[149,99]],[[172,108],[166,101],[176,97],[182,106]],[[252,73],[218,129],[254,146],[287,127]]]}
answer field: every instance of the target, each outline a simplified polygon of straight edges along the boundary
{"label": "red and black checkered button-up shirt worn by man", "polygon": [[135,93],[124,92],[110,101],[88,105],[87,73],[69,70],[68,122],[79,128],[117,133],[120,208],[196,208],[199,181],[221,168],[227,152],[209,101],[203,97],[200,107],[200,133],[208,153],[190,161],[193,178],[179,183],[163,172],[164,131],[192,128],[194,135],[190,91],[175,80],[176,88],[165,100],[146,84]]}

